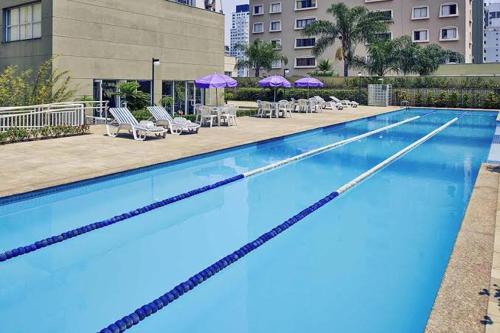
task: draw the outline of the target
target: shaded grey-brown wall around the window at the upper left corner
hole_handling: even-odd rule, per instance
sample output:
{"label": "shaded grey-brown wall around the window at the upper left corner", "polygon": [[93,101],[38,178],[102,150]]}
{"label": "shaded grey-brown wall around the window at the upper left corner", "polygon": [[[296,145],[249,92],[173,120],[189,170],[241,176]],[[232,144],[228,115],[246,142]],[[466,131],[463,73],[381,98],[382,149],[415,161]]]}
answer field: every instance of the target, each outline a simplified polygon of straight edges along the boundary
{"label": "shaded grey-brown wall around the window at the upper left corner", "polygon": [[1,0],[0,1],[0,27],[2,30],[0,44],[0,71],[9,65],[17,65],[21,70],[33,69],[49,60],[52,55],[52,1],[42,1],[42,38],[5,42],[5,24],[3,11],[32,1],[26,0]]}

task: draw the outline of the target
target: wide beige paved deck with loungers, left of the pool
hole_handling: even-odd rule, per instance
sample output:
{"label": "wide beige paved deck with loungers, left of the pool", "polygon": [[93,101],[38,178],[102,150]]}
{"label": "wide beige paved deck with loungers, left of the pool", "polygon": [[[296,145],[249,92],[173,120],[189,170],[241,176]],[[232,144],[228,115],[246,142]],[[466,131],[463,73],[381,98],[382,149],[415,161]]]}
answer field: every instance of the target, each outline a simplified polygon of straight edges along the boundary
{"label": "wide beige paved deck with loungers, left of the pool", "polygon": [[105,135],[103,126],[91,134],[0,145],[0,197],[66,184],[161,162],[177,160],[338,124],[400,109],[368,107],[318,114],[294,114],[286,119],[238,118],[238,126],[201,128],[197,135],[137,142],[124,134]]}

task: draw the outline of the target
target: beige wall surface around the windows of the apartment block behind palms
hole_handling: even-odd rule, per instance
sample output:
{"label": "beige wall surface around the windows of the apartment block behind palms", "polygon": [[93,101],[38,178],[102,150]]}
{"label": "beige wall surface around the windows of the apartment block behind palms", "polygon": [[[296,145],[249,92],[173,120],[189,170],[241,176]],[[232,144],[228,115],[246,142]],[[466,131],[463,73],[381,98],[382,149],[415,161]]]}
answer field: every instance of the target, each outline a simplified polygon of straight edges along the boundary
{"label": "beige wall surface around the windows of the apartment block behind palms", "polygon": [[[429,43],[436,43],[443,48],[452,49],[462,53],[465,56],[466,62],[472,62],[472,7],[470,0],[398,0],[398,1],[373,1],[366,0],[318,0],[316,9],[295,10],[295,1],[281,1],[282,12],[277,14],[269,13],[271,3],[280,2],[277,0],[250,0],[250,40],[257,38],[263,40],[280,39],[282,43],[282,53],[287,56],[289,63],[286,66],[291,70],[291,75],[305,75],[314,69],[298,69],[294,68],[296,57],[311,56],[311,49],[296,49],[295,39],[304,37],[301,30],[295,30],[296,18],[316,18],[319,20],[332,20],[331,14],[326,11],[332,3],[344,2],[349,6],[365,6],[370,10],[392,10],[394,20],[388,24],[388,30],[392,32],[392,37],[397,38],[403,35],[412,34],[413,30],[429,29]],[[459,8],[459,16],[440,18],[440,5],[444,3],[457,3]],[[263,4],[264,14],[253,15],[253,6]],[[429,6],[430,18],[424,20],[412,20],[412,8],[419,6]],[[281,20],[280,32],[269,32],[270,22]],[[264,33],[252,33],[253,23],[263,22]],[[457,41],[439,41],[439,32],[443,27],[455,26],[459,31],[459,40]],[[421,43],[426,45],[428,43]],[[335,51],[339,47],[339,43],[329,48],[322,56],[318,57],[317,64],[321,59],[330,59],[335,63],[336,71],[342,75],[342,63],[335,60]],[[364,45],[359,45],[357,48],[359,55],[364,55]],[[282,73],[283,69],[272,71],[272,73]],[[353,70],[357,72],[357,70]]]}

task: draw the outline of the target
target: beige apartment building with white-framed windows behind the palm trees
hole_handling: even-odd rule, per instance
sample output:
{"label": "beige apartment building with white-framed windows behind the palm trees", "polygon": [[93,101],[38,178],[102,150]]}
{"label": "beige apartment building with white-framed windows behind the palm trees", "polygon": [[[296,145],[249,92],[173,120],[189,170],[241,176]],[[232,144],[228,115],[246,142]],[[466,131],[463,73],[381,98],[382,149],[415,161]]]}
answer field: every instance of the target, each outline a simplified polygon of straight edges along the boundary
{"label": "beige apartment building with white-framed windows behind the palm trees", "polygon": [[[472,0],[250,0],[250,41],[271,41],[288,58],[287,65],[276,62],[273,73],[283,73],[286,67],[291,75],[305,75],[321,59],[334,59],[338,45],[316,58],[311,52],[316,39],[304,36],[303,29],[315,20],[332,19],[326,11],[340,2],[383,12],[387,38],[409,35],[416,43],[439,44],[472,62]],[[364,45],[357,51],[364,54]],[[336,66],[342,74],[341,64]]]}

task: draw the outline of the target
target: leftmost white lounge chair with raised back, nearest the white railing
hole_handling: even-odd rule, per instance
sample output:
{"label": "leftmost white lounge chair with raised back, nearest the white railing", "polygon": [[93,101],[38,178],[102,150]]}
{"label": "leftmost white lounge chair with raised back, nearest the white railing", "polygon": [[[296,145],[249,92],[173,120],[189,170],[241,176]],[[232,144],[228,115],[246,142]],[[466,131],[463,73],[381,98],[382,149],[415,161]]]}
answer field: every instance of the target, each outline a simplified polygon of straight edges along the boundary
{"label": "leftmost white lounge chair with raised back, nearest the white railing", "polygon": [[[134,140],[137,141],[146,140],[148,134],[154,134],[155,136],[162,136],[165,138],[168,132],[167,129],[155,126],[150,121],[139,123],[127,108],[110,108],[109,113],[111,113],[115,120],[111,124],[106,124],[106,131],[108,135],[113,138],[116,137],[122,129],[128,129],[128,132],[132,133]],[[111,127],[116,128],[116,132],[113,133]]]}

